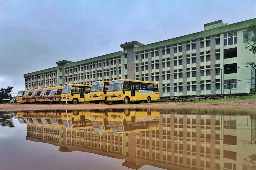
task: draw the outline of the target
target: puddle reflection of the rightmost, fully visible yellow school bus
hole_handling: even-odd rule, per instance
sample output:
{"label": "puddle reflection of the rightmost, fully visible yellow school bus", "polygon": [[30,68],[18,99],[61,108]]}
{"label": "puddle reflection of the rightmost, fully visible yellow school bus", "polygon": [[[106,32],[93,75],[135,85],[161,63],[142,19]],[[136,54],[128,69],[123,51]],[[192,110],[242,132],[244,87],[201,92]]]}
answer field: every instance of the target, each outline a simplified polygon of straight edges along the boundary
{"label": "puddle reflection of the rightmost, fully visible yellow school bus", "polygon": [[158,111],[129,111],[108,112],[109,126],[113,132],[139,132],[155,130],[159,127]]}

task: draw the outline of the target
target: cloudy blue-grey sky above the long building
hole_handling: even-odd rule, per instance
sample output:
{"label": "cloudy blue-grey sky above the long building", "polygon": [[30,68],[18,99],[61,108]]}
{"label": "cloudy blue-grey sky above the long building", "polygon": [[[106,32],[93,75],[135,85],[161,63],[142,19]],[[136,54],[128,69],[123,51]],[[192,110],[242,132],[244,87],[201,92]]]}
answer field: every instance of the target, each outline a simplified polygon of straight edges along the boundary
{"label": "cloudy blue-grey sky above the long building", "polygon": [[0,0],[0,88],[25,89],[23,74],[203,31],[222,19],[256,18],[255,0]]}

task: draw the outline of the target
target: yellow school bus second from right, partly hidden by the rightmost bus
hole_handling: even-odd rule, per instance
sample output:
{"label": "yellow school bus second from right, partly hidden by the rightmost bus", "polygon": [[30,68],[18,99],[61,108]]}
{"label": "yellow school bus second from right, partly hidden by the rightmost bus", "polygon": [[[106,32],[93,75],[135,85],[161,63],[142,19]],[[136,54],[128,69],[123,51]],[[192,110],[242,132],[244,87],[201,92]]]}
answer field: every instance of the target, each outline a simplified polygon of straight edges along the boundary
{"label": "yellow school bus second from right, partly hidden by the rightmost bus", "polygon": [[94,101],[95,104],[99,104],[100,102],[109,104],[109,101],[107,100],[109,83],[110,81],[98,81],[92,84],[90,91],[91,102]]}

